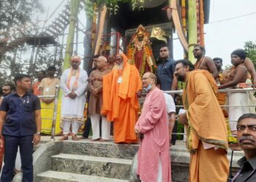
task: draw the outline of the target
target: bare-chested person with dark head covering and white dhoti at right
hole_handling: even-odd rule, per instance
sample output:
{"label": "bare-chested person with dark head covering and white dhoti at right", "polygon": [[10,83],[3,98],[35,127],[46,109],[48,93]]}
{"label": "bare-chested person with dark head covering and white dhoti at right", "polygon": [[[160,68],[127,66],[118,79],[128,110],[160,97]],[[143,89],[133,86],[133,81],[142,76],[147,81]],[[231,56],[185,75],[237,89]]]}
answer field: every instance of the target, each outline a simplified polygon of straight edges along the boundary
{"label": "bare-chested person with dark head covering and white dhoti at right", "polygon": [[[244,66],[246,59],[246,52],[244,50],[234,50],[231,53],[231,63],[234,66],[233,71],[230,72],[225,84],[220,85],[219,89],[224,88],[238,88],[239,85],[244,85],[247,79],[247,69]],[[229,92],[228,96],[228,116],[230,121],[230,130],[233,135],[236,135],[236,124],[238,118],[246,113],[255,113],[255,107],[246,107],[254,105],[249,98],[250,92]],[[253,98],[253,97],[252,97]],[[236,107],[232,107],[236,106]],[[237,107],[241,106],[241,107]]]}

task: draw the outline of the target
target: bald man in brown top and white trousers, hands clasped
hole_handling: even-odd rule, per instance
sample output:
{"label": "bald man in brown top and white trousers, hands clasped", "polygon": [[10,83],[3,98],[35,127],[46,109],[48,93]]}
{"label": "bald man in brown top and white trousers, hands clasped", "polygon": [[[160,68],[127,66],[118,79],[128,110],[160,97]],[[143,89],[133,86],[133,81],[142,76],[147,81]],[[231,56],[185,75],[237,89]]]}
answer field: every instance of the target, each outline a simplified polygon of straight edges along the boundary
{"label": "bald man in brown top and white trousers, hands clasped", "polygon": [[[89,116],[91,116],[92,141],[110,140],[110,122],[100,115],[102,109],[102,76],[108,74],[107,58],[99,56],[97,59],[97,69],[92,71],[89,77]],[[99,135],[99,120],[102,117],[102,136]]]}

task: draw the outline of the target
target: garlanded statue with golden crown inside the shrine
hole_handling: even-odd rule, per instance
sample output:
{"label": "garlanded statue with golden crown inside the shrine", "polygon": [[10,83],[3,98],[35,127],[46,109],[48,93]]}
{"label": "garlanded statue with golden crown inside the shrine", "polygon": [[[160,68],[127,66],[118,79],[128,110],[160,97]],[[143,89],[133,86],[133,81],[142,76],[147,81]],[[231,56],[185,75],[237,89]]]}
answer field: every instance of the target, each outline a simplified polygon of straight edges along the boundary
{"label": "garlanded statue with golden crown inside the shrine", "polygon": [[153,72],[156,68],[149,36],[143,25],[139,25],[136,34],[132,36],[128,45],[127,57],[129,63],[138,68],[141,77],[148,71]]}

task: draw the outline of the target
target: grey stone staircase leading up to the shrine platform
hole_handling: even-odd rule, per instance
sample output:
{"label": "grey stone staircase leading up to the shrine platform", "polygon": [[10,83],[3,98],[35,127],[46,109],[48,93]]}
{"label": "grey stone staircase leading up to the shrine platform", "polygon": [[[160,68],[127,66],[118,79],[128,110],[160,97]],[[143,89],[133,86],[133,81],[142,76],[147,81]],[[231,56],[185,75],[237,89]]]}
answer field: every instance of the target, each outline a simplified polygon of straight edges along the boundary
{"label": "grey stone staircase leading up to the shrine platform", "polygon": [[129,181],[137,150],[137,145],[64,141],[61,153],[50,157],[50,170],[35,181]]}

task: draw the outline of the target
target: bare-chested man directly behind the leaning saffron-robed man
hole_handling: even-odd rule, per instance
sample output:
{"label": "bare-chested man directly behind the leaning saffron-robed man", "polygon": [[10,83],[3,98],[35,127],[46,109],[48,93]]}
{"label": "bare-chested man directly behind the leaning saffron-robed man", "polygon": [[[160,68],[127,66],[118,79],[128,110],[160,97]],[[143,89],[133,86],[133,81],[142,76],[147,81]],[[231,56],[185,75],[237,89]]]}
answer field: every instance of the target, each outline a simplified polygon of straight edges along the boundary
{"label": "bare-chested man directly behind the leaning saffron-robed man", "polygon": [[202,47],[200,45],[195,45],[193,50],[194,57],[197,58],[197,62],[195,63],[195,70],[197,69],[203,69],[209,71],[212,76],[214,76],[214,79],[217,79],[219,72],[214,64],[214,61],[205,56],[206,49],[205,47]]}

